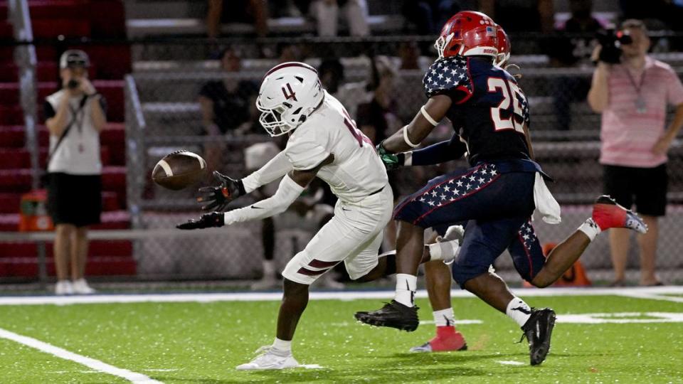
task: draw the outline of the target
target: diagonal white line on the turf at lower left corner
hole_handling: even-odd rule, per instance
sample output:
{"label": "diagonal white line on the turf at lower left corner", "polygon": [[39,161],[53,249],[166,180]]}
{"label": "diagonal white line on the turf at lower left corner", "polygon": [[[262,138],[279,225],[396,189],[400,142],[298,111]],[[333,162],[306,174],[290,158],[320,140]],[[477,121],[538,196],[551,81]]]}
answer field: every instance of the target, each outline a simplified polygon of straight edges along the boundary
{"label": "diagonal white line on the turf at lower left corner", "polygon": [[131,383],[163,384],[161,381],[149,378],[149,376],[143,375],[142,373],[137,373],[133,372],[132,370],[110,366],[109,364],[99,360],[95,360],[94,358],[89,358],[87,356],[79,355],[78,353],[67,351],[63,348],[53,346],[52,344],[48,344],[36,338],[15,334],[14,332],[7,331],[6,329],[0,328],[0,337],[6,338],[11,341],[16,341],[17,343],[29,346],[31,348],[36,348],[38,351],[49,353],[58,358],[63,358],[64,360],[75,361],[76,363],[83,364],[83,366],[86,366],[92,370],[97,370],[99,372],[108,373],[110,375],[118,376],[120,378],[125,378]]}

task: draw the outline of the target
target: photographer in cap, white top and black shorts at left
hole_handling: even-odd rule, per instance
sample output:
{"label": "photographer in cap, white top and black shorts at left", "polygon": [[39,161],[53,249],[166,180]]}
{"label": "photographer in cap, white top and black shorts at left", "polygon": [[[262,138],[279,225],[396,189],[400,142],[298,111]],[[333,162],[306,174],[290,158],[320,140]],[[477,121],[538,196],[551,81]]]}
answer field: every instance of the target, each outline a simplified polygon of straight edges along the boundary
{"label": "photographer in cap, white top and black shorts at left", "polygon": [[[88,80],[83,50],[59,60],[62,88],[46,97],[43,112],[50,132],[48,210],[55,224],[56,294],[92,294],[85,282],[88,225],[100,223],[102,163],[100,132],[107,124],[105,99]],[[69,271],[71,279],[69,279]]]}

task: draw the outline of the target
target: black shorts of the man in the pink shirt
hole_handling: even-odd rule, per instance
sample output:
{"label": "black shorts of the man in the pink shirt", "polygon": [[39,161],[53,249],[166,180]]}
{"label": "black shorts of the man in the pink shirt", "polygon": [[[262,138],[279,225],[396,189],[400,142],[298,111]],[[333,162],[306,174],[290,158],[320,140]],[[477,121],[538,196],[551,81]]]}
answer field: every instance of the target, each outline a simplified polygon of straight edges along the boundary
{"label": "black shorts of the man in the pink shirt", "polygon": [[642,215],[663,216],[667,208],[667,164],[655,168],[604,166],[603,191]]}

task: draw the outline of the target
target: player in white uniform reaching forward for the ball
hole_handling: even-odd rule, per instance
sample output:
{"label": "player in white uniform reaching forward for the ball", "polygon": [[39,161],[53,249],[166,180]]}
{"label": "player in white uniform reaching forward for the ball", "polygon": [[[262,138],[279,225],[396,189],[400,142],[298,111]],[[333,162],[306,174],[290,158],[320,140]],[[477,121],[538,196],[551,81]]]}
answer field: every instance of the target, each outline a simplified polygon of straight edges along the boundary
{"label": "player in white uniform reaching forward for the ball", "polygon": [[[275,195],[245,208],[212,212],[181,229],[222,227],[260,220],[282,213],[317,176],[329,184],[339,200],[334,217],[287,263],[282,272],[284,297],[272,346],[240,370],[293,368],[291,343],[308,304],[309,285],[344,261],[351,279],[371,281],[396,273],[394,253],[379,257],[383,229],[391,220],[393,194],[384,165],[370,140],[349,117],[342,104],[320,84],[317,71],[305,63],[282,63],[263,78],[258,99],[260,123],[271,136],[289,134],[285,150],[253,174],[233,180],[218,172],[220,186],[201,188],[198,201],[205,209],[223,210],[238,196],[282,178]],[[424,261],[452,260],[456,241],[425,246]]]}

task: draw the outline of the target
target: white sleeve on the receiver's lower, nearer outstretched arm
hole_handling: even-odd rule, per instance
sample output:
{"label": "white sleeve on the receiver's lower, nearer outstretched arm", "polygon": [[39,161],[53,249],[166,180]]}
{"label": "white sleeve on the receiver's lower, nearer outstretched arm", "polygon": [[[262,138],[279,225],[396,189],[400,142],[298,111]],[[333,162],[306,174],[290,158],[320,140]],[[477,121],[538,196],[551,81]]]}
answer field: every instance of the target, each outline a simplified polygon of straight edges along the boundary
{"label": "white sleeve on the receiver's lower, nearer outstretched arm", "polygon": [[277,187],[275,195],[258,201],[258,203],[253,203],[250,206],[226,212],[224,214],[225,223],[226,225],[231,225],[248,220],[260,220],[285,212],[287,207],[294,203],[304,189],[304,187],[292,180],[290,176],[285,175],[282,181],[280,181],[280,186]]}

